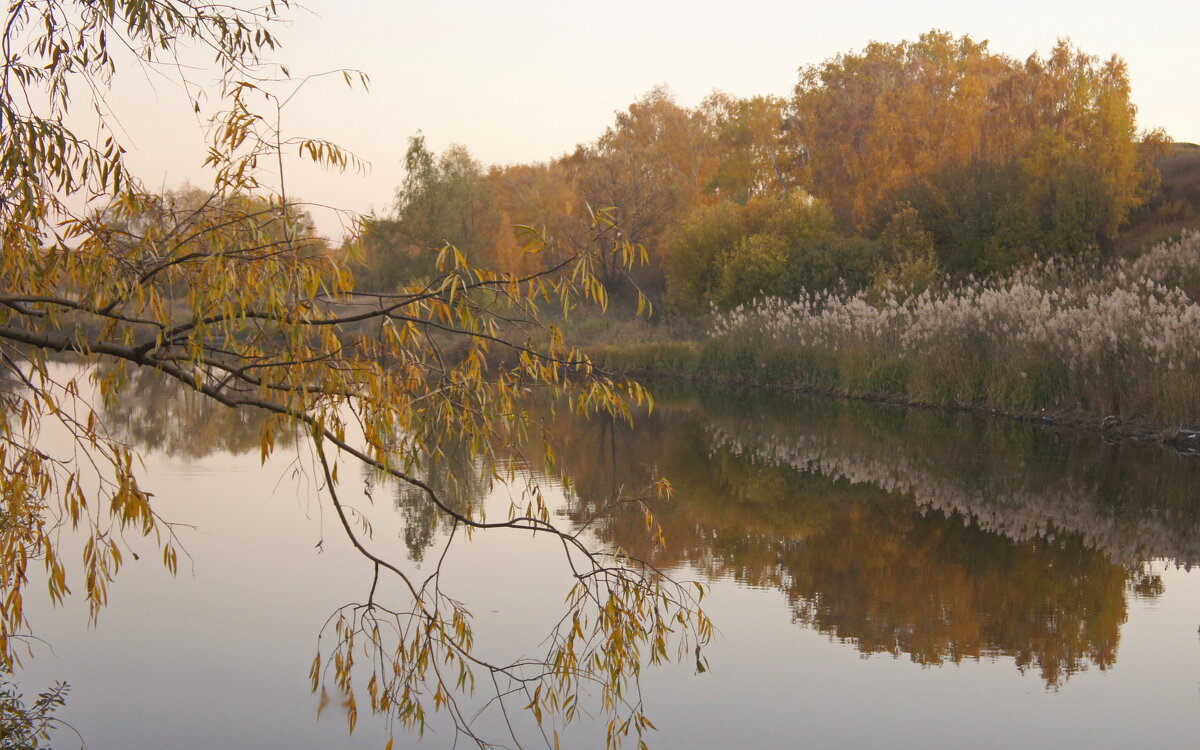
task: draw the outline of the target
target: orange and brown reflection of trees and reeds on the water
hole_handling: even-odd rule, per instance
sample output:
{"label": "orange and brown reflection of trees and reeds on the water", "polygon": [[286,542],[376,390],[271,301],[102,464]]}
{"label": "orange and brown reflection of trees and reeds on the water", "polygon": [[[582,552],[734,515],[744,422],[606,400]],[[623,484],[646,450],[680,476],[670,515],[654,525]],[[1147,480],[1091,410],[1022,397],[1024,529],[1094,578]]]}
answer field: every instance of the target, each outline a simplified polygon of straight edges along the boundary
{"label": "orange and brown reflection of trees and reeds on the water", "polygon": [[[245,412],[144,373],[136,390],[106,413],[131,439],[185,456],[258,449]],[[667,545],[654,546],[636,506],[599,526],[604,541],[662,568],[779,589],[796,622],[865,654],[1012,658],[1057,688],[1115,664],[1127,596],[1163,593],[1148,560],[1200,562],[1200,466],[1156,448],[728,391],[660,392],[636,427],[562,410],[547,419],[576,522],[666,476],[674,499],[654,510]],[[463,509],[496,479],[466,448],[420,473]],[[422,497],[370,484],[394,493],[420,560],[446,529]]]}

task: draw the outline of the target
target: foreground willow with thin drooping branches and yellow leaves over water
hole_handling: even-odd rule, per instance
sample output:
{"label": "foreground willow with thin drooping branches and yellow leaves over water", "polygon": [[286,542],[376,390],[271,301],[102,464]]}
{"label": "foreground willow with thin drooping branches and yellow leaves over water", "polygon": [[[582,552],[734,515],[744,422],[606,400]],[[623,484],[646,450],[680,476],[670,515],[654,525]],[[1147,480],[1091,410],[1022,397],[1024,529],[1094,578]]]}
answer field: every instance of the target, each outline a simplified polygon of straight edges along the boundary
{"label": "foreground willow with thin drooping branches and yellow leaves over water", "polygon": [[[580,252],[546,272],[499,274],[445,244],[457,239],[446,229],[425,280],[386,293],[355,292],[335,258],[310,252],[316,239],[311,224],[296,221],[301,206],[282,187],[272,190],[265,170],[296,154],[334,168],[356,163],[335,144],[280,128],[284,97],[274,82],[287,71],[266,58],[287,8],[286,1],[240,11],[194,0],[8,5],[0,85],[0,362],[16,388],[0,391],[0,661],[12,667],[17,638],[28,632],[22,602],[31,565],[44,566],[54,601],[80,587],[92,617],[126,564],[122,534],[144,535],[175,569],[170,524],[140,484],[131,450],[96,418],[128,395],[130,373],[154,370],[215,404],[260,413],[264,458],[283,432],[304,436],[323,496],[365,570],[394,577],[407,592],[404,601],[384,602],[372,586],[364,602],[335,613],[313,660],[313,689],[341,696],[352,730],[360,702],[409,727],[443,710],[485,746],[456,700],[478,670],[497,678],[498,690],[527,694],[529,710],[546,724],[569,719],[580,691],[594,686],[613,719],[608,743],[640,737],[649,726],[632,692],[642,660],[671,656],[672,642],[690,654],[708,635],[691,589],[618,551],[586,547],[577,529],[552,522],[535,487],[509,517],[482,518],[420,479],[424,457],[451,442],[494,458],[503,476],[500,445],[532,428],[511,419],[532,388],[559,394],[584,413],[628,414],[647,398],[638,385],[593,368],[534,304],[552,298],[570,308],[602,299],[598,259]],[[118,48],[137,59],[119,64]],[[128,173],[104,108],[96,109],[96,138],[66,125],[128,66],[166,62],[182,74],[187,67],[174,65],[175,55],[193,48],[215,59],[220,79],[211,98],[182,82],[191,106],[211,116],[206,164],[215,176],[203,210],[157,196]],[[437,166],[432,184],[448,172],[476,176],[468,160],[452,155],[445,168]],[[431,182],[419,172],[413,179],[401,212],[415,216],[418,187]],[[430,218],[428,226],[440,224]],[[596,212],[595,232],[614,236],[610,214]],[[629,242],[610,250],[631,266]],[[505,338],[502,318],[542,332],[545,346]],[[451,344],[458,356],[449,356]],[[486,365],[496,348],[510,352],[511,365]],[[55,380],[48,362],[60,353],[80,360],[80,374]],[[80,396],[88,377],[100,403]],[[40,449],[52,424],[72,436],[74,454]],[[545,659],[494,664],[478,654],[470,617],[439,577],[412,578],[350,522],[354,498],[338,484],[347,464],[408,482],[456,527],[560,540],[574,588]],[[56,522],[80,529],[83,550],[60,546]],[[362,649],[377,656],[364,666],[370,676],[354,667]]]}

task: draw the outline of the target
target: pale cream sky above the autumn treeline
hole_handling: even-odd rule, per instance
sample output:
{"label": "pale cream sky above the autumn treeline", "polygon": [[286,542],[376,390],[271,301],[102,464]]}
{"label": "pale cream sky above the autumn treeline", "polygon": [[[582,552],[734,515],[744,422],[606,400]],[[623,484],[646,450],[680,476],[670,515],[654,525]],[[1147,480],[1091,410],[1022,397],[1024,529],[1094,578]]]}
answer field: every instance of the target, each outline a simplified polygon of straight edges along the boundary
{"label": "pale cream sky above the autumn treeline", "polygon": [[[293,164],[288,192],[355,211],[389,208],[418,130],[436,151],[461,143],[485,164],[546,161],[595,139],[614,112],[656,85],[689,107],[714,89],[787,96],[802,66],[934,28],[1018,58],[1045,53],[1063,36],[1088,54],[1118,54],[1129,65],[1139,125],[1200,142],[1195,0],[310,0],[292,17],[278,60],[293,74],[358,68],[371,88],[312,82],[284,110],[284,131],[330,138],[371,169],[336,175]],[[196,116],[170,84],[137,84],[109,97],[133,145],[131,166],[155,186],[203,185]],[[329,215],[319,223],[338,230]]]}

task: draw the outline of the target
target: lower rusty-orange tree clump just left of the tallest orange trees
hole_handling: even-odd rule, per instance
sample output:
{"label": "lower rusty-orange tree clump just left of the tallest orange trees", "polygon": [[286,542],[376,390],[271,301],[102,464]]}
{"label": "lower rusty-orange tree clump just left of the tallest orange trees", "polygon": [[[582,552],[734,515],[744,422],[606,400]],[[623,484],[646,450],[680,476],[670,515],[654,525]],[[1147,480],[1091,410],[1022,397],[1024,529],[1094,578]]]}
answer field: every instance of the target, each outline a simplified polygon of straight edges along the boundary
{"label": "lower rusty-orange tree clump just left of the tallest orange trees", "polygon": [[[662,284],[674,283],[665,282],[662,274],[670,274],[677,260],[707,264],[672,257],[680,247],[672,235],[692,210],[714,202],[781,198],[796,187],[786,104],[779,97],[715,92],[688,109],[666,89],[654,89],[618,113],[595,143],[574,154],[547,163],[492,168],[488,176],[500,223],[517,227],[517,235],[521,227],[544,230],[557,251],[541,257],[553,260],[556,252],[576,252],[593,241],[590,210],[611,206],[624,235],[647,248],[650,266],[636,280],[647,282],[646,290],[659,299]],[[529,268],[520,242],[498,246],[496,256],[506,268]],[[619,264],[606,271],[613,281],[619,282],[620,275]]]}

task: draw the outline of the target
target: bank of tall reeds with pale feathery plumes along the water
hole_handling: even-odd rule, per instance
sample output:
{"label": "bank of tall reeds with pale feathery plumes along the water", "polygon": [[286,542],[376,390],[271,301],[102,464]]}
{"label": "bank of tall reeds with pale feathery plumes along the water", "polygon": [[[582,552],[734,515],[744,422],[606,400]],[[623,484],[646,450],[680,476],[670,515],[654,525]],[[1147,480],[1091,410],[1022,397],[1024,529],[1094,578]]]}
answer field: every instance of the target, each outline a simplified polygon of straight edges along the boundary
{"label": "bank of tall reeds with pale feathery plumes along the water", "polygon": [[1187,233],[1099,269],[1051,260],[917,295],[757,300],[700,335],[626,335],[593,353],[625,372],[1165,432],[1200,424],[1196,299],[1200,233]]}

